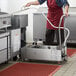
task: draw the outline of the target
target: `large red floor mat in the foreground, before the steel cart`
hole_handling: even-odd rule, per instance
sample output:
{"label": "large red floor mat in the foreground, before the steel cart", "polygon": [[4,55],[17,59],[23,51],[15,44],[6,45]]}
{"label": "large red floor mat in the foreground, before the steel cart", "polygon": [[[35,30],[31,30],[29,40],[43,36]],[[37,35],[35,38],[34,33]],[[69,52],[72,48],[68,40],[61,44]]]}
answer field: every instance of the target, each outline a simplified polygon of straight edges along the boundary
{"label": "large red floor mat in the foreground, before the steel cart", "polygon": [[52,76],[60,65],[16,63],[0,72],[0,76]]}

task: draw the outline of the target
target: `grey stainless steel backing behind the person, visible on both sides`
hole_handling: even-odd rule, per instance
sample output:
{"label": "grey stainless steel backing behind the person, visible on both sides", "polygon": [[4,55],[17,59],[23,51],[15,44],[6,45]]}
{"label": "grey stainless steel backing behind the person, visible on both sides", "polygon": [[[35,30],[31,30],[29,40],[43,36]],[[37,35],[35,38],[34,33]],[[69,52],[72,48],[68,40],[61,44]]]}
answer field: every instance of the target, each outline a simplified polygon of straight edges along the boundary
{"label": "grey stainless steel backing behind the person, visible on both sides", "polygon": [[[47,16],[47,14],[45,15]],[[33,19],[33,39],[44,41],[46,33],[46,19],[41,13],[33,14]],[[66,17],[64,26],[70,30],[70,36],[67,43],[76,43],[76,15],[70,14],[70,16]]]}

